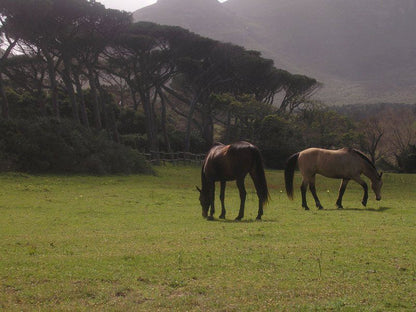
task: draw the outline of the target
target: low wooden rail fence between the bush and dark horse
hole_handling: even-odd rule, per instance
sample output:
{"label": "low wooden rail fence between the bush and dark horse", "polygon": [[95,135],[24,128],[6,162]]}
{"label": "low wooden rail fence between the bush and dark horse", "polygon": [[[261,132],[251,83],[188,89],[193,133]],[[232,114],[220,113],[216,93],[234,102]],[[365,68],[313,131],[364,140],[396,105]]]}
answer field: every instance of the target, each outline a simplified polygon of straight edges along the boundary
{"label": "low wooden rail fence between the bush and dark horse", "polygon": [[172,163],[172,164],[201,164],[205,154],[193,154],[189,152],[156,152],[149,151],[141,153],[151,163]]}

